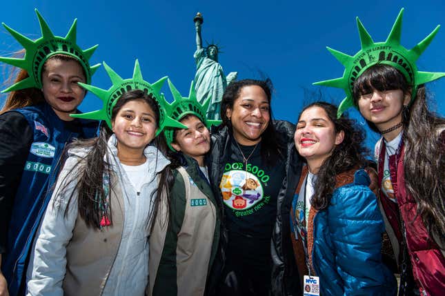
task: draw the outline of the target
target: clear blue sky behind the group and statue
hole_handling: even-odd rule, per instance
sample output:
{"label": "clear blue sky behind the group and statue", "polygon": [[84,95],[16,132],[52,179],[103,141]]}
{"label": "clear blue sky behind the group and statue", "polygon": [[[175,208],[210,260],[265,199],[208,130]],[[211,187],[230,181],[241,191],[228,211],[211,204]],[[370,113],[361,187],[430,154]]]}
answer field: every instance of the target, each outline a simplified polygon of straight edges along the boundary
{"label": "clear blue sky behind the group and statue", "polygon": [[[404,7],[402,45],[412,48],[437,24],[439,33],[420,57],[419,70],[445,72],[445,4],[443,1],[3,1],[0,21],[32,39],[40,37],[34,7],[52,31],[65,36],[77,17],[81,48],[99,44],[92,63],[106,61],[124,79],[131,77],[139,59],[144,79],[154,82],[168,76],[178,90],[188,93],[195,75],[196,12],[204,16],[203,39],[223,46],[219,61],[226,74],[238,78],[270,77],[275,86],[272,107],[276,119],[295,122],[301,107],[322,96],[339,103],[342,90],[312,86],[314,81],[342,76],[344,68],[326,46],[349,55],[359,50],[355,17],[374,41],[384,41],[395,17]],[[21,49],[0,28],[0,55]],[[3,82],[5,69],[0,66]],[[108,89],[110,79],[99,68],[92,84]],[[2,89],[5,87],[3,86]],[[445,78],[428,83],[433,109],[445,115]],[[168,86],[164,92],[171,98]],[[4,96],[0,98],[3,103]],[[101,101],[87,95],[81,110],[95,110]],[[350,115],[357,116],[356,111]],[[377,135],[368,131],[368,145]]]}

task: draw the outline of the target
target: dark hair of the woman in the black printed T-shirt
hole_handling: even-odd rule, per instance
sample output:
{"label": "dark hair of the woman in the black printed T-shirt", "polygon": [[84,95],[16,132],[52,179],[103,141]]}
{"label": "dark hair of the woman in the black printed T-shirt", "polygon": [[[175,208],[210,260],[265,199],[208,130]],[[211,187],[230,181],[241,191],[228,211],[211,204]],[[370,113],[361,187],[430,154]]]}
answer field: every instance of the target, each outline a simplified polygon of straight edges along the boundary
{"label": "dark hair of the woman in the black printed T-shirt", "polygon": [[[235,100],[238,99],[241,89],[245,86],[259,86],[266,93],[269,105],[272,100],[273,84],[270,79],[243,79],[230,83],[227,86],[221,101],[221,119],[223,121],[221,126],[227,126],[230,132],[232,132],[233,126],[226,115],[226,110],[228,108],[233,109]],[[269,124],[261,135],[261,159],[263,159],[268,166],[273,166],[279,157],[282,157],[285,144],[281,143],[279,137],[277,137],[275,127],[273,126],[272,106],[269,106],[269,117]]]}

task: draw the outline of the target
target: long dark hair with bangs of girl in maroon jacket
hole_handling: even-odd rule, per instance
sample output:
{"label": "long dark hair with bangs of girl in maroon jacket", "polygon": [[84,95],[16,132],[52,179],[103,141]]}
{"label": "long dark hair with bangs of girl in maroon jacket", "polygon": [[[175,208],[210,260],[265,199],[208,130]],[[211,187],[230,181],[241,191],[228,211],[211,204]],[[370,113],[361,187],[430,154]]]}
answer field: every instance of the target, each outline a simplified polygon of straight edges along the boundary
{"label": "long dark hair with bangs of girl in maroon jacket", "polygon": [[[404,94],[413,89],[399,70],[384,64],[370,67],[355,81],[355,101],[372,88],[402,90]],[[427,101],[425,86],[419,86],[413,103],[402,114],[404,177],[406,189],[417,204],[412,221],[420,215],[428,233],[440,237],[445,233],[445,153],[438,132],[444,130],[445,119],[428,110]]]}

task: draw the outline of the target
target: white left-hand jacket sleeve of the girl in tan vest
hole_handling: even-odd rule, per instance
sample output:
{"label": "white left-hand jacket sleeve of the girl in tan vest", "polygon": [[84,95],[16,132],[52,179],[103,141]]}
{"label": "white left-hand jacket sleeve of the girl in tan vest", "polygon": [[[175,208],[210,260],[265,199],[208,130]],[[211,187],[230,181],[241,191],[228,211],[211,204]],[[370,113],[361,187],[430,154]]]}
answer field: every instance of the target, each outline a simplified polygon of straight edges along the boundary
{"label": "white left-hand jacket sleeve of the girl in tan vest", "polygon": [[[63,296],[66,246],[72,237],[78,213],[77,193],[72,194],[77,184],[70,179],[73,166],[77,164],[77,161],[75,157],[67,159],[43,215],[26,273],[28,296]],[[71,199],[70,196],[72,196]]]}

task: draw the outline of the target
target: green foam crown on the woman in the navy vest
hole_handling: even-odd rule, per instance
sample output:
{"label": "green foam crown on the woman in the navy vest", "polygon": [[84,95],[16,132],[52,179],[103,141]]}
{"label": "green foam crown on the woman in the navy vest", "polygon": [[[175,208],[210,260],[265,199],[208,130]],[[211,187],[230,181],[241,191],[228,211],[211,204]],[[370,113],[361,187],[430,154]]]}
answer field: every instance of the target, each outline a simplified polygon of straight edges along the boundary
{"label": "green foam crown on the woman in the navy vest", "polygon": [[77,34],[77,19],[72,23],[66,37],[59,37],[52,34],[48,23],[43,19],[39,11],[35,10],[37,18],[39,19],[42,37],[33,41],[28,37],[23,36],[19,32],[12,30],[5,23],[3,26],[10,32],[12,37],[17,39],[19,43],[25,48],[25,57],[23,59],[0,57],[0,61],[8,63],[12,66],[19,67],[28,72],[29,77],[17,83],[14,83],[2,92],[10,92],[12,90],[22,90],[24,88],[41,88],[41,69],[43,64],[53,55],[62,54],[75,58],[81,64],[87,83],[91,83],[91,76],[99,68],[100,63],[95,66],[90,66],[88,60],[95,52],[97,45],[87,50],[81,50],[76,44]]}

